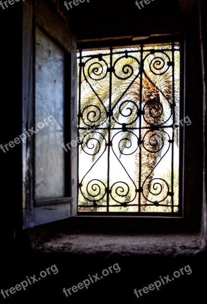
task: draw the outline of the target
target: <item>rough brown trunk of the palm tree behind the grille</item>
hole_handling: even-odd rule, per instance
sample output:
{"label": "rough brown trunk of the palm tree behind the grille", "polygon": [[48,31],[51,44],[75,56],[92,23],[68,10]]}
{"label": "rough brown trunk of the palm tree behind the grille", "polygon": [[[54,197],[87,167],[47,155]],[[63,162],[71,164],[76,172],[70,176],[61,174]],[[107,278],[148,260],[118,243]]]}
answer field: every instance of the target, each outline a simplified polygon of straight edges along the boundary
{"label": "rough brown trunk of the palm tree behind the grille", "polygon": [[[148,59],[147,66],[150,65],[149,62],[153,61],[154,57],[157,55],[150,55]],[[163,59],[165,55],[161,54],[159,57]],[[157,64],[160,64],[157,61]],[[179,57],[176,57],[176,68],[179,68]],[[177,80],[178,82],[178,80]],[[145,211],[146,200],[149,196],[150,189],[148,185],[154,177],[154,168],[157,164],[157,160],[161,158],[161,147],[167,141],[166,134],[164,130],[157,129],[156,126],[160,126],[167,120],[168,113],[163,112],[164,105],[170,107],[170,113],[173,115],[172,111],[174,107],[171,107],[173,96],[173,83],[172,83],[172,72],[167,71],[163,75],[157,75],[152,73],[148,68],[142,78],[142,104],[144,111],[144,121],[143,129],[141,132],[141,139],[143,141],[142,154],[140,156],[140,151],[136,152],[135,164],[135,181],[137,188],[139,188],[139,179],[142,187],[142,196],[140,198],[140,204],[144,205],[141,207],[140,211]],[[128,93],[130,94],[130,93]],[[140,82],[134,83],[134,97],[137,101],[140,98]],[[178,105],[179,102],[179,91],[175,92],[175,104]],[[176,122],[179,120],[179,113],[175,111]],[[151,126],[151,129],[149,129]],[[176,142],[178,144],[178,133],[176,132]],[[141,177],[139,178],[139,166],[142,166]],[[132,194],[133,195],[133,194]],[[131,207],[131,211],[135,211],[135,208]]]}

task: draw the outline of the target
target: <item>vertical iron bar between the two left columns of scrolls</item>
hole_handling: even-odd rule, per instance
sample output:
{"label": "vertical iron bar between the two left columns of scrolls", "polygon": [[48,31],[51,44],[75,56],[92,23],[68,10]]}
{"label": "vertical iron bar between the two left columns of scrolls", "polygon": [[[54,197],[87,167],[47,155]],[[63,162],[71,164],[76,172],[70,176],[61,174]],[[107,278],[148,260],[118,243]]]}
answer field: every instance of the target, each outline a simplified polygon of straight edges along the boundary
{"label": "vertical iron bar between the two left columns of scrolls", "polygon": [[[111,115],[111,98],[112,98],[112,65],[113,65],[113,48],[110,49],[110,76],[109,76],[109,123]],[[110,179],[110,142],[111,142],[111,124],[108,125],[108,159],[107,159],[107,212],[109,211],[109,179]]]}

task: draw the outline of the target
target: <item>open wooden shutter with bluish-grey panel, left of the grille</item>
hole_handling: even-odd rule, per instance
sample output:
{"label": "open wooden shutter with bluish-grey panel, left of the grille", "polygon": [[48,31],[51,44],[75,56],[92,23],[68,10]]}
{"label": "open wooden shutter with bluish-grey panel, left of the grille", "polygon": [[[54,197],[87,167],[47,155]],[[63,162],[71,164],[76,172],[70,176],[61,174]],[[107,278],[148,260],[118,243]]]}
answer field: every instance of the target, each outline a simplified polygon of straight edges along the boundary
{"label": "open wooden shutter with bluish-grey panel, left of the grille", "polygon": [[[76,41],[40,0],[23,5],[23,228],[76,215]],[[34,132],[33,132],[34,131]]]}

